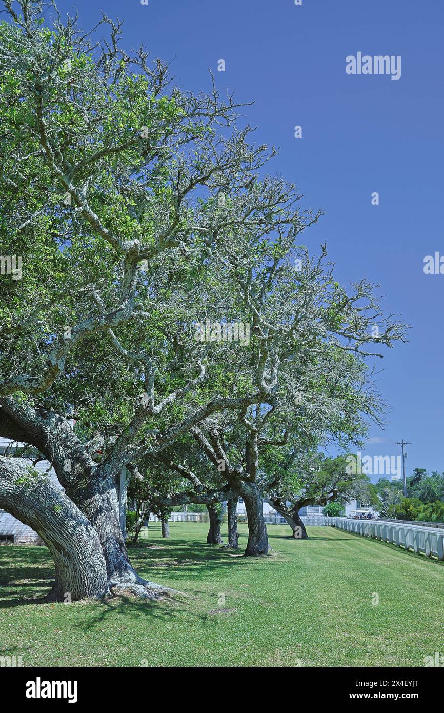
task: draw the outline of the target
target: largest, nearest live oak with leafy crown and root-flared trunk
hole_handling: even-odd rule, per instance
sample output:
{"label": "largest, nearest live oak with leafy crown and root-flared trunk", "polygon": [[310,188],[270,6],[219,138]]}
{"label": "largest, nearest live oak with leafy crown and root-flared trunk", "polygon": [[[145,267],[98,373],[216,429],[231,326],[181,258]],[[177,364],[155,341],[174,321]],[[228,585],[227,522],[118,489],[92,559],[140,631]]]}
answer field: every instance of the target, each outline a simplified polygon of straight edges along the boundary
{"label": "largest, nearest live oak with leafy crown and root-flared trunk", "polygon": [[[177,300],[191,293],[189,305],[190,287],[211,282],[212,261],[231,279],[239,232],[288,229],[293,240],[313,217],[297,212],[293,187],[259,180],[269,153],[237,128],[232,97],[172,87],[143,48],[120,50],[120,26],[106,18],[98,28],[109,38],[96,42],[55,7],[45,21],[38,1],[4,5],[0,240],[3,255],[22,257],[23,275],[0,284],[0,434],[51,462],[66,527],[51,526],[54,493],[32,487],[42,497],[29,498],[19,459],[0,459],[0,506],[12,510],[12,482],[17,516],[53,553],[66,548],[55,592],[156,596],[162,588],[128,560],[117,474],[211,414],[272,401],[275,380],[272,345],[261,344],[237,390],[208,386],[205,345],[177,338]],[[248,289],[242,300],[251,309]],[[201,305],[185,315],[185,332]],[[171,378],[164,367],[174,361]],[[91,548],[69,541],[91,528],[103,553],[100,564],[95,548],[96,566]]]}

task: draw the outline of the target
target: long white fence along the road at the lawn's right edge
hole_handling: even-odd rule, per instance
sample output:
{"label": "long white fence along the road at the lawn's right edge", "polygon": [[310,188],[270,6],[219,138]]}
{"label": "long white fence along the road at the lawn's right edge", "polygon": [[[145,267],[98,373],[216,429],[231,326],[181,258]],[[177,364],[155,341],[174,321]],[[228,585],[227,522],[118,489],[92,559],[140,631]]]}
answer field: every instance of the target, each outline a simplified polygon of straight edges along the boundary
{"label": "long white fence along the road at the lawn's right edge", "polygon": [[426,557],[444,560],[444,532],[438,528],[349,518],[329,518],[329,525],[348,533],[398,545]]}

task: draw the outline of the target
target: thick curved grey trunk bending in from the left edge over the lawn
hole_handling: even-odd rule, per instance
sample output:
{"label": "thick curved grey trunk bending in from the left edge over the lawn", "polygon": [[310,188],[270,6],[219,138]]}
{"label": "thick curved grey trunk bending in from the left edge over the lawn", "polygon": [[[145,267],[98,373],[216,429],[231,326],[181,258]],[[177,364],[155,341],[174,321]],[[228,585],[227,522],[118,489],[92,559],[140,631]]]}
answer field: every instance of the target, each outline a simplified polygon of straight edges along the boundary
{"label": "thick curved grey trunk bending in from the left edge over the lawn", "polygon": [[0,507],[36,530],[48,545],[56,566],[48,598],[70,602],[108,593],[95,529],[60,488],[23,458],[0,457]]}

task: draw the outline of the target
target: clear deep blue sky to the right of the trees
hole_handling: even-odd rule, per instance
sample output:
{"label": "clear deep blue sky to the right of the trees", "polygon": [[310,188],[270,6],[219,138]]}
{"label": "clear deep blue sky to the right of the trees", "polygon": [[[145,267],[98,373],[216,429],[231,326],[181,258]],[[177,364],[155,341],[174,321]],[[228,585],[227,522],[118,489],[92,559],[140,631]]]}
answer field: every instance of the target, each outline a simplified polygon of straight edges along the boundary
{"label": "clear deep blue sky to the right of the trees", "polygon": [[[387,311],[411,324],[410,341],[378,366],[390,412],[368,455],[397,455],[408,473],[444,471],[444,275],[423,258],[444,254],[444,3],[441,0],[74,0],[85,29],[100,10],[124,20],[123,47],[142,41],[172,61],[184,89],[217,86],[254,100],[245,114],[257,140],[280,148],[270,170],[294,181],[325,216],[306,232],[324,240],[343,280],[381,284]],[[401,78],[349,76],[348,55],[401,55]],[[217,72],[217,61],[226,63]],[[294,138],[301,125],[303,138]],[[371,205],[371,193],[380,205]]]}

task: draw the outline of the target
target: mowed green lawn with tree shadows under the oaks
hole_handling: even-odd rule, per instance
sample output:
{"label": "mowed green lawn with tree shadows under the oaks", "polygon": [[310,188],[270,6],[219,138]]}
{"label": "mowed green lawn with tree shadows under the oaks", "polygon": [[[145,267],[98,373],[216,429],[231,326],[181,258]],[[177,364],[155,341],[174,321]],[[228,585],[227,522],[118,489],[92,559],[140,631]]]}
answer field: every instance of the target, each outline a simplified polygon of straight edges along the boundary
{"label": "mowed green lawn with tree shadows under the oaks", "polygon": [[162,540],[150,525],[130,551],[146,578],[180,590],[162,602],[32,602],[51,583],[48,551],[0,547],[0,655],[26,666],[396,667],[444,652],[441,563],[334,528],[296,541],[269,525],[273,553],[259,559],[207,545],[207,525],[170,531]]}

